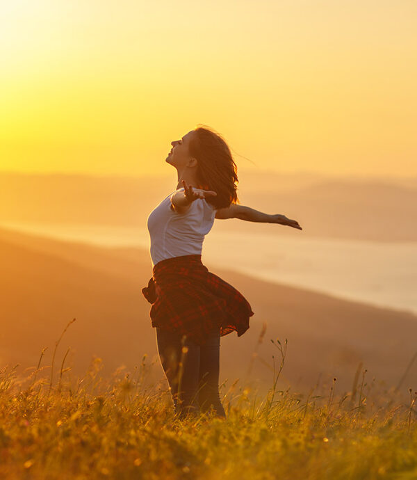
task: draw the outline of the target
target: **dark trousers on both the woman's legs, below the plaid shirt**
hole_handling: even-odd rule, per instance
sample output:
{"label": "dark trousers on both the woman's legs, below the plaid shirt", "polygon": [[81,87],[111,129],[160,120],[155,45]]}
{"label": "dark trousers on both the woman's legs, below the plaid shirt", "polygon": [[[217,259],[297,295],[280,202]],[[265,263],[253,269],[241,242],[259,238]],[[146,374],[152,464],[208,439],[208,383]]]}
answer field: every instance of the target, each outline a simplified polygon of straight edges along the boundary
{"label": "dark trousers on both the woman's legs, below the plaid shirt", "polygon": [[219,397],[220,333],[199,346],[186,335],[156,327],[156,342],[174,412],[183,418],[212,406],[216,416],[226,417]]}

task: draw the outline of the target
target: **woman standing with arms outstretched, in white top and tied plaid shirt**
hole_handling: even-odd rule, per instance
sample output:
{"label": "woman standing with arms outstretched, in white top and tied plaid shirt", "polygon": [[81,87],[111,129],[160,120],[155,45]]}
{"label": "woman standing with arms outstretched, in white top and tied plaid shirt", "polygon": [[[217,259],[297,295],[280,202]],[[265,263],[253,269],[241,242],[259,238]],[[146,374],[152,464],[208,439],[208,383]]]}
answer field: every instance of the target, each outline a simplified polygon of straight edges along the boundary
{"label": "woman standing with arms outstretched, in white top and tied plaid shirt", "polygon": [[224,139],[198,127],[171,143],[166,161],[177,189],[149,214],[153,274],[142,294],[152,303],[161,365],[180,418],[213,409],[226,417],[218,391],[220,337],[249,328],[250,303],[202,264],[202,244],[215,218],[280,223],[284,215],[237,205],[237,167]]}

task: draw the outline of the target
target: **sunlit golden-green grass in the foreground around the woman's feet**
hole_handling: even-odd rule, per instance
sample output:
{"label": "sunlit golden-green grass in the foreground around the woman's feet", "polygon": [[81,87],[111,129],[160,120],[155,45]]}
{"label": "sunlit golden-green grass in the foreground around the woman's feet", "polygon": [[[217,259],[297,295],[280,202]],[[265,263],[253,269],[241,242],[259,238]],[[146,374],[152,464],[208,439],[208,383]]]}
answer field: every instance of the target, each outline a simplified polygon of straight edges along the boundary
{"label": "sunlit golden-green grass in the foreground around the woman's feet", "polygon": [[99,358],[75,383],[65,356],[59,368],[42,367],[41,355],[24,381],[4,367],[0,478],[417,479],[416,392],[400,402],[395,390],[368,384],[365,369],[341,395],[337,379],[327,394],[317,385],[306,396],[279,390],[287,342],[271,342],[270,392],[259,399],[236,382],[221,385],[227,419],[176,418],[169,392],[145,386],[146,355],[111,380]]}

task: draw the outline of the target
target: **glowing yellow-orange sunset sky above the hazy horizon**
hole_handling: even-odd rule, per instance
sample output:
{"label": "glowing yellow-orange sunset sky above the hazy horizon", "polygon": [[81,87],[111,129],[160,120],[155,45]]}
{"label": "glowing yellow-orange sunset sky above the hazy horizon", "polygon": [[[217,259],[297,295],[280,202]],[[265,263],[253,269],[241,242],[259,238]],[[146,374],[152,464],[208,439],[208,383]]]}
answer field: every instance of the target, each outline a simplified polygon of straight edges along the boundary
{"label": "glowing yellow-orange sunset sky above the hazy horizon", "polygon": [[4,2],[0,170],[167,173],[202,123],[240,168],[417,175],[416,18],[415,0]]}

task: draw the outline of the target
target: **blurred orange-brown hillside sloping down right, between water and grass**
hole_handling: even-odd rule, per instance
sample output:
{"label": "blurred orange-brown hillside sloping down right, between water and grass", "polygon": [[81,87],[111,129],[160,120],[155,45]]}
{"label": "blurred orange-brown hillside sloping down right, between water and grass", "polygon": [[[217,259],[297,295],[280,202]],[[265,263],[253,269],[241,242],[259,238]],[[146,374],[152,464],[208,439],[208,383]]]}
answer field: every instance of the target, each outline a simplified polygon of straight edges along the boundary
{"label": "blurred orange-brown hillside sloping down right, between water and grass", "polygon": [[[121,365],[132,371],[147,353],[149,362],[155,362],[154,378],[161,379],[150,305],[140,291],[152,275],[147,251],[99,248],[3,229],[0,264],[0,365],[19,363],[22,372],[37,365],[44,346],[43,365],[50,365],[54,342],[76,318],[58,349],[59,365],[68,346],[66,363],[79,375],[92,355],[103,359],[106,375]],[[239,289],[255,312],[245,335],[222,337],[220,382],[240,378],[270,387],[272,355],[276,367],[279,362],[270,339],[277,338],[288,339],[282,385],[300,391],[319,376],[336,376],[338,391],[349,390],[359,362],[368,369],[368,378],[396,385],[414,355],[415,315],[206,266]],[[264,322],[265,337],[250,369]],[[407,382],[416,368],[404,387],[411,386]]]}

